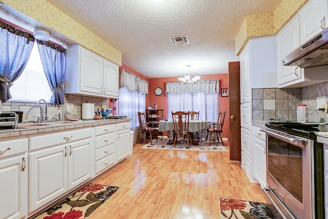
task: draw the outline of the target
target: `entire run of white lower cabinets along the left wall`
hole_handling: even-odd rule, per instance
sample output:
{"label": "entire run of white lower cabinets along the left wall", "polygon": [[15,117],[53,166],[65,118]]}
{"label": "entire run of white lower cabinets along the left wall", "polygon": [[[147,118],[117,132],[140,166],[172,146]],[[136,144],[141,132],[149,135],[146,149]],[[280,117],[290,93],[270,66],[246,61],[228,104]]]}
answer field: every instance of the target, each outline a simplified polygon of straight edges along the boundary
{"label": "entire run of white lower cabinets along the left wall", "polygon": [[130,122],[0,138],[0,218],[32,217],[130,156]]}

